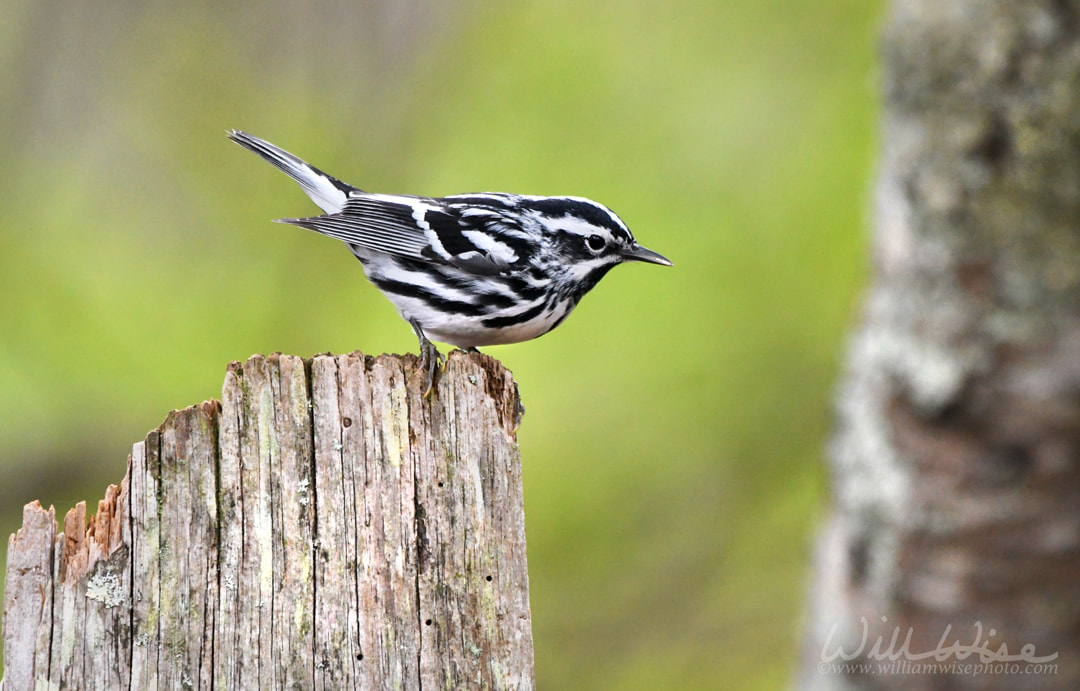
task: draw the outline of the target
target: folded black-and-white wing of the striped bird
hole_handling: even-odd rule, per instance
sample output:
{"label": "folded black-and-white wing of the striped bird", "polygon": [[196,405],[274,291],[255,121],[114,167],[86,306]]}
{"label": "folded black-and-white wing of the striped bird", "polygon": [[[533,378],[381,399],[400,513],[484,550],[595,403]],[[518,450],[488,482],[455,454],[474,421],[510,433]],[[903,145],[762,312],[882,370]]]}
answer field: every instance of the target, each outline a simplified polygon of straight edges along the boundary
{"label": "folded black-and-white wing of the striped bird", "polygon": [[446,200],[353,192],[337,214],[283,218],[350,245],[397,257],[500,273],[518,261],[525,233],[495,208]]}

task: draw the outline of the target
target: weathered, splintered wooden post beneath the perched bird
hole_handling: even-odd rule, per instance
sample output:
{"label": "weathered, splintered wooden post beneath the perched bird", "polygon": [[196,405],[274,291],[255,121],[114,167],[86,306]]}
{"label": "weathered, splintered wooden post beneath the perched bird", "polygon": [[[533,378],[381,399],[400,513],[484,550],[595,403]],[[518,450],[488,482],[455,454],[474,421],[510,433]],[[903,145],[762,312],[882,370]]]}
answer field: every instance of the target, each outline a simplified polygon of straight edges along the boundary
{"label": "weathered, splintered wooden post beneath the perched bird", "polygon": [[233,363],[87,524],[24,510],[4,691],[529,689],[517,388],[451,353]]}

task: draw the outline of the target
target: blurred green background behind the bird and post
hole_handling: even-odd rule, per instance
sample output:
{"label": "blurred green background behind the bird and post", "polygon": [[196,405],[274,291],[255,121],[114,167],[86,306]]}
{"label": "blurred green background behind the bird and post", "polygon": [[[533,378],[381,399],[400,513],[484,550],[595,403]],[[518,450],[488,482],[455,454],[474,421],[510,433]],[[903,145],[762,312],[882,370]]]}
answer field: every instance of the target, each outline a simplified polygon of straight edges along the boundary
{"label": "blurred green background behind the bird and post", "polygon": [[881,4],[52,2],[0,14],[0,530],[92,506],[253,353],[416,350],[243,128],[373,191],[569,193],[674,269],[489,348],[528,409],[537,680],[793,678],[867,273]]}

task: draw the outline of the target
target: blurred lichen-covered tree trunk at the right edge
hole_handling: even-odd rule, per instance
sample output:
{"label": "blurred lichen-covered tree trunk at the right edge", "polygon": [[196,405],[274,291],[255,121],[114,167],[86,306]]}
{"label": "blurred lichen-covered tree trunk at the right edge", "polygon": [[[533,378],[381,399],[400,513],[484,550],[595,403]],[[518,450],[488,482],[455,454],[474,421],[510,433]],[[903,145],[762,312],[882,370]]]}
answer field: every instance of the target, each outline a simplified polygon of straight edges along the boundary
{"label": "blurred lichen-covered tree trunk at the right edge", "polygon": [[[876,275],[800,686],[1078,689],[1080,3],[894,0],[881,54]],[[946,664],[879,665],[908,634],[885,663]],[[1056,659],[947,669],[1002,645]],[[870,666],[824,666],[839,648]]]}

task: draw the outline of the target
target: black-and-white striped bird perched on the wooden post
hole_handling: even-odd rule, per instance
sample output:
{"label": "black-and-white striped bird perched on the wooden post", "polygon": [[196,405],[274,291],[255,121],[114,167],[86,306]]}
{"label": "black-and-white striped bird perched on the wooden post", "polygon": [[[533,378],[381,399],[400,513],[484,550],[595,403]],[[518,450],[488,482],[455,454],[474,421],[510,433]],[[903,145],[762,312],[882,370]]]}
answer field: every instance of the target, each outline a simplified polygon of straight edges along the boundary
{"label": "black-and-white striped bird perched on the wooden post", "polygon": [[366,192],[251,134],[229,139],[295,180],[323,212],[280,218],[342,241],[413,327],[431,393],[443,356],[527,341],[563,323],[613,267],[673,266],[637,244],[610,208],[582,197]]}

